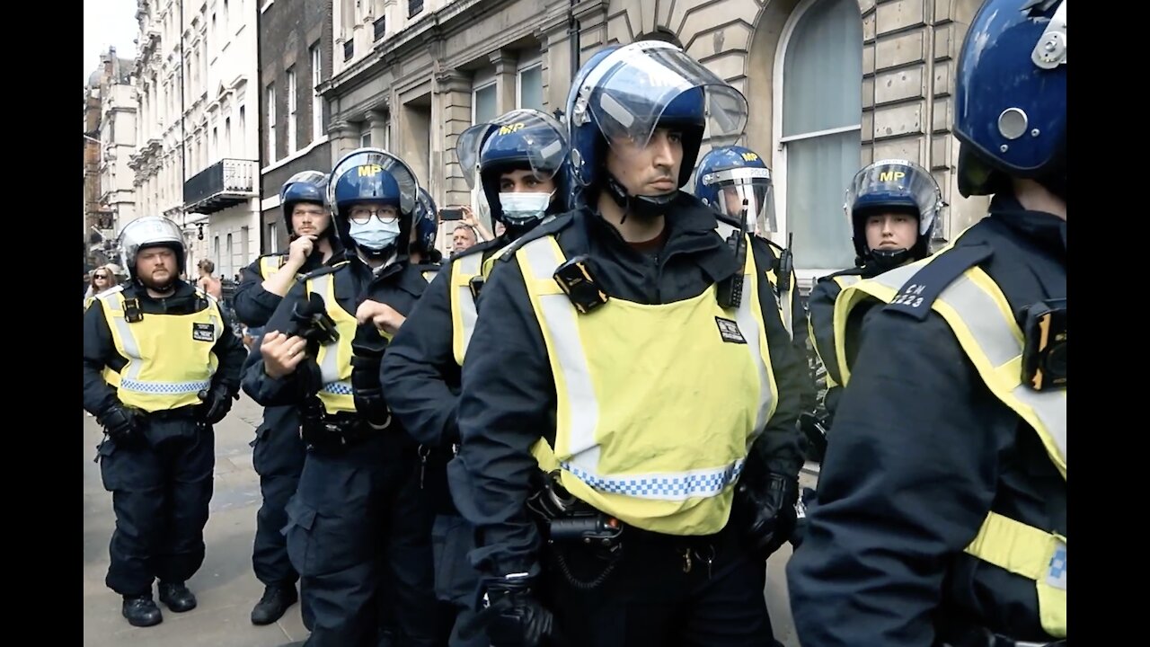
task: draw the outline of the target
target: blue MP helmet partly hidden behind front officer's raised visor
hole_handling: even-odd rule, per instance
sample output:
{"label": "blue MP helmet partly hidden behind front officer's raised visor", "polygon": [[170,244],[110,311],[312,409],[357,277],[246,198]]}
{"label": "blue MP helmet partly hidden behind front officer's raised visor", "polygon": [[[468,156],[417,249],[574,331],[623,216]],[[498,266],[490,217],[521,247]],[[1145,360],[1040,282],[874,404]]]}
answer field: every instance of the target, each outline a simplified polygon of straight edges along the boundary
{"label": "blue MP helmet partly hidden behind front officer's raised visor", "polygon": [[749,231],[777,230],[770,169],[750,149],[720,146],[703,155],[695,172],[695,197],[719,212],[719,219],[731,227],[739,226],[739,216],[746,208]]}

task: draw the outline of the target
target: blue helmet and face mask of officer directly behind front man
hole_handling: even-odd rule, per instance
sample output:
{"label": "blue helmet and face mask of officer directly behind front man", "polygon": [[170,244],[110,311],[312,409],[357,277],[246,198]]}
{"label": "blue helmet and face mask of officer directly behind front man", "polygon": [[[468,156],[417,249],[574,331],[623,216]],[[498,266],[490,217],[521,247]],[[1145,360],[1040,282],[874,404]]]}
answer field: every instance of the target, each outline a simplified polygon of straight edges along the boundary
{"label": "blue helmet and face mask of officer directly behind front man", "polygon": [[[455,146],[469,188],[475,172],[491,218],[522,229],[544,214],[567,211],[567,131],[553,116],[534,109],[516,109],[490,122],[477,123],[459,136]],[[500,177],[509,170],[530,170],[537,178],[551,178],[550,192],[501,192]]]}

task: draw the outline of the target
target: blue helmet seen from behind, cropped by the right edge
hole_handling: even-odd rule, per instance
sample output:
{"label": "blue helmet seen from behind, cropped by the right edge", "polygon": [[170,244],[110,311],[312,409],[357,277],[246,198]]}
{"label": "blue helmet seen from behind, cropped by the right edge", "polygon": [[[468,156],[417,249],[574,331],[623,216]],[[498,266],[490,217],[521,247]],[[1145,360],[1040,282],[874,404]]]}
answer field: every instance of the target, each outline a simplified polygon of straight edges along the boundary
{"label": "blue helmet seen from behind, cropped by the right edge", "polygon": [[986,0],[958,56],[958,190],[984,196],[1010,177],[1066,199],[1066,1]]}

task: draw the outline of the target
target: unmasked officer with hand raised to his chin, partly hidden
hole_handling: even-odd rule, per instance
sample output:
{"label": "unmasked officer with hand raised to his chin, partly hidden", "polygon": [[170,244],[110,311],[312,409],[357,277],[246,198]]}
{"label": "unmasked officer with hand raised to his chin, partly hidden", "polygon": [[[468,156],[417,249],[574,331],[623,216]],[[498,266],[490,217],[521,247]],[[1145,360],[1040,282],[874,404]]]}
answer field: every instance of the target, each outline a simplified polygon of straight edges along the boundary
{"label": "unmasked officer with hand raised to his chin, partly hidden", "polygon": [[[270,253],[255,259],[240,272],[236,290],[236,317],[251,327],[263,327],[284,295],[302,274],[330,261],[342,250],[327,204],[328,176],[317,170],[298,173],[279,189],[284,227],[291,243],[286,253]],[[252,441],[252,463],[260,474],[263,503],[255,516],[255,542],[252,568],[263,583],[263,595],[252,609],[252,624],[266,625],[279,619],[299,599],[299,573],[288,558],[284,507],[296,494],[304,469],[304,442],[299,437],[299,416],[293,405],[268,406]],[[307,611],[305,611],[307,615]]]}

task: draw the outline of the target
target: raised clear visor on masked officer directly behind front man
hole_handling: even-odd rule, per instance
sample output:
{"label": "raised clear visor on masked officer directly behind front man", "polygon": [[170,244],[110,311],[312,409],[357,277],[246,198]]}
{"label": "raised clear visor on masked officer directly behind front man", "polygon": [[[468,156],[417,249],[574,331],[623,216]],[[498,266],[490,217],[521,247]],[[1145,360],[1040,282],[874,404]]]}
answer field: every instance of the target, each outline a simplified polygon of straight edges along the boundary
{"label": "raised clear visor on masked officer directly behind front man", "polygon": [[553,177],[567,155],[567,130],[554,117],[538,111],[519,109],[462,132],[455,153],[469,189],[475,188],[483,147],[492,157],[523,159],[540,177]]}

